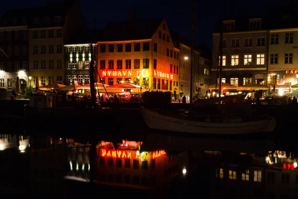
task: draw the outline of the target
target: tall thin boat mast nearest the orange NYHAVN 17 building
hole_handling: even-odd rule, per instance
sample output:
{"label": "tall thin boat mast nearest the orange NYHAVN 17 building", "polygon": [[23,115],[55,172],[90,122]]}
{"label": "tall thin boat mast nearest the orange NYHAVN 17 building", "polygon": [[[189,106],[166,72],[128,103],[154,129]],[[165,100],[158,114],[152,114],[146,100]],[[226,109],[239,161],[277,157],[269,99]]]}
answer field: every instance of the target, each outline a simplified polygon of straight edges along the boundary
{"label": "tall thin boat mast nearest the orange NYHAVN 17 building", "polygon": [[193,110],[193,63],[195,61],[194,56],[194,43],[195,43],[195,0],[191,0],[191,41],[190,41],[190,99],[189,99],[189,113]]}

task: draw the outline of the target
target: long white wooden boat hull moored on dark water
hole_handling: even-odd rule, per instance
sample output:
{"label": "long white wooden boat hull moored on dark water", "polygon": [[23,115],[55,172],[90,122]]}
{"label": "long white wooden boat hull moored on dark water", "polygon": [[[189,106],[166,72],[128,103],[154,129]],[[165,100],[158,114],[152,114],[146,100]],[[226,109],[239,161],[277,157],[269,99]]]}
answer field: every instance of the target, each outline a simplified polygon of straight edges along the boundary
{"label": "long white wooden boat hull moored on dark water", "polygon": [[272,132],[276,125],[276,120],[273,117],[251,122],[215,123],[178,119],[161,115],[145,108],[142,108],[141,111],[149,128],[164,131],[241,135],[258,132]]}

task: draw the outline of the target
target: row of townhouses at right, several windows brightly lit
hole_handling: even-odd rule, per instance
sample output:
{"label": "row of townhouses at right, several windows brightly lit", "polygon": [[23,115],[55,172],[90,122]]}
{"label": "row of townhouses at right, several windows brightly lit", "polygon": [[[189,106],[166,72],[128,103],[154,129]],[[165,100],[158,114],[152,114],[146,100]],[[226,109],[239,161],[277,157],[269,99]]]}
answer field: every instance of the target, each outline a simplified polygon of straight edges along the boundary
{"label": "row of townhouses at right, several windows brightly lit", "polygon": [[[223,21],[222,82],[233,86],[268,85],[280,96],[297,96],[290,86],[298,84],[298,26],[290,19],[290,15],[283,16],[274,26],[263,18]],[[219,31],[213,33],[213,44],[212,71],[216,74]],[[218,77],[213,83],[219,81]]]}

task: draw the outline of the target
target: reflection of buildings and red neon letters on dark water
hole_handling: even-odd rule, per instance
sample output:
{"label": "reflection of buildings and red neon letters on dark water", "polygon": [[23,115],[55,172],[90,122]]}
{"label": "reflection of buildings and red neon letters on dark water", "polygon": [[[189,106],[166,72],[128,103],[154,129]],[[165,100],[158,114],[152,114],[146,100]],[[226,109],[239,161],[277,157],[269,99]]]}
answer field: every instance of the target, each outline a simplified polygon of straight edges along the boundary
{"label": "reflection of buildings and red neon letters on dark water", "polygon": [[71,197],[78,187],[66,189],[66,185],[89,185],[93,150],[94,181],[101,192],[107,190],[102,186],[108,186],[115,194],[119,189],[124,189],[121,193],[149,190],[155,193],[152,198],[185,198],[198,192],[211,199],[298,198],[298,163],[293,153],[212,151],[200,146],[187,151],[142,151],[144,140],[103,139],[95,143],[50,135],[0,134],[0,178],[7,179],[1,185],[28,190],[27,194]]}

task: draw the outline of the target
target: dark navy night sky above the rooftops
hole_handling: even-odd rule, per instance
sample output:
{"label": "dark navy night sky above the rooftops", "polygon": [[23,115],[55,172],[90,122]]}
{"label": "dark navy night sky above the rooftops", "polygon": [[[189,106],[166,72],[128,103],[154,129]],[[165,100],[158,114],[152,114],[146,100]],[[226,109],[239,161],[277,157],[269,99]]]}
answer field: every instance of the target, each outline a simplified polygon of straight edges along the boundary
{"label": "dark navy night sky above the rooftops", "polygon": [[[11,0],[1,3],[0,14],[9,8],[41,6],[47,0]],[[53,0],[52,0],[53,1]],[[59,1],[59,0],[54,0]],[[107,21],[126,20],[127,9],[136,8],[136,18],[146,19],[165,17],[170,30],[178,31],[182,36],[190,38],[190,0],[79,0],[82,11],[93,28],[104,28]],[[278,0],[197,0],[196,11],[196,43],[206,43],[212,48],[212,32],[221,15],[257,15],[266,14],[270,5],[278,5]],[[224,12],[225,13],[224,13]]]}

